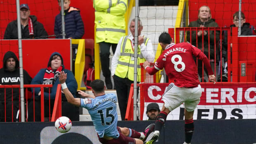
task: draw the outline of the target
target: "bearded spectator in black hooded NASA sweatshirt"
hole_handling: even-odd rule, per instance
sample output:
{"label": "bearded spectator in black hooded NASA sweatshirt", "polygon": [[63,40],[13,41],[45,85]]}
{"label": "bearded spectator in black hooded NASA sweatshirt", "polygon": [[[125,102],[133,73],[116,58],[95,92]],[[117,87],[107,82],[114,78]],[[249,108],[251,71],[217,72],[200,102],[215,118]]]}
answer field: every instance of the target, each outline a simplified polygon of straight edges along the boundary
{"label": "bearded spectator in black hooded NASA sweatshirt", "polygon": [[[32,78],[27,71],[23,70],[23,76],[24,84],[29,85]],[[3,67],[0,69],[0,85],[19,84],[19,60],[13,52],[6,52],[3,58]],[[4,88],[0,89],[0,122],[5,122],[5,100],[6,122],[12,122],[12,120],[16,121],[17,111],[19,110],[19,88],[6,88],[6,90]]]}

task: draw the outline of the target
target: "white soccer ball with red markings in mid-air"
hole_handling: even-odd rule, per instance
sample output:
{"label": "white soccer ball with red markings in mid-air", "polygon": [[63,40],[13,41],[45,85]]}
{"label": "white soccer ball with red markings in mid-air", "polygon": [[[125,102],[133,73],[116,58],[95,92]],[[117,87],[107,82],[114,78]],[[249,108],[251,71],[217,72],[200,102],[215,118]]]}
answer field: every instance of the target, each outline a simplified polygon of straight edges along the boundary
{"label": "white soccer ball with red markings in mid-air", "polygon": [[58,132],[65,133],[71,129],[72,122],[66,116],[61,116],[55,121],[55,128]]}

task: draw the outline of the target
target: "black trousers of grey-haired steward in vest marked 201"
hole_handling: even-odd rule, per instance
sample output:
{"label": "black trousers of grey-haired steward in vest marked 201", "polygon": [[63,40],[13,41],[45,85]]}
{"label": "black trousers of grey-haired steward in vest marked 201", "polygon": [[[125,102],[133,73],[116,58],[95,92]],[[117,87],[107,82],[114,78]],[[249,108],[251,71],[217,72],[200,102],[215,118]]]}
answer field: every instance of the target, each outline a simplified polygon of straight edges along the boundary
{"label": "black trousers of grey-haired steward in vest marked 201", "polygon": [[128,78],[120,78],[119,76],[114,75],[114,84],[116,86],[116,94],[122,120],[125,120],[130,85],[132,83],[133,81]]}

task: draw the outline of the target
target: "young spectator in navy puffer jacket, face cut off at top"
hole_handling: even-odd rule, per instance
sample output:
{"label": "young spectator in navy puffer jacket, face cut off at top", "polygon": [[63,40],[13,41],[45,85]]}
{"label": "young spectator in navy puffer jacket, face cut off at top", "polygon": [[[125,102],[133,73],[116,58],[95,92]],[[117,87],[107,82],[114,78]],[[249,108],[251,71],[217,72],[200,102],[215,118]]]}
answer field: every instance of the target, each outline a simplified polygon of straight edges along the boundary
{"label": "young spectator in navy puffer jacket, face cut off at top", "polygon": [[[59,2],[59,7],[61,7],[61,2]],[[75,7],[69,7],[70,0],[63,0],[64,7],[64,22],[65,22],[65,38],[81,39],[85,33],[83,21],[80,15],[80,9]],[[54,33],[56,38],[63,38],[62,36],[62,16],[59,13],[55,17]],[[78,45],[72,45],[72,59],[73,59],[73,69],[75,68],[75,60]]]}

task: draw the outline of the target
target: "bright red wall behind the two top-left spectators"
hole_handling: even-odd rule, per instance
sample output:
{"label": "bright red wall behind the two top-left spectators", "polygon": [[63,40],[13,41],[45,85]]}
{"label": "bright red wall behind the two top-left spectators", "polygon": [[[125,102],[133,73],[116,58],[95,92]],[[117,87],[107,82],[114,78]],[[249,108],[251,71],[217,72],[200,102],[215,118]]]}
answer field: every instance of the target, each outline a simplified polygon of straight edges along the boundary
{"label": "bright red wall behind the two top-left spectators", "polygon": [[[92,0],[70,0],[71,7],[80,9],[85,34],[83,38],[94,39],[94,9]],[[20,4],[27,3],[30,14],[35,15],[37,20],[43,24],[48,35],[54,35],[55,17],[59,14],[57,0],[20,0]],[[0,39],[3,39],[5,28],[9,22],[17,19],[16,0],[1,0],[0,3]],[[50,37],[55,38],[55,37]]]}

